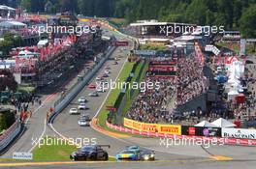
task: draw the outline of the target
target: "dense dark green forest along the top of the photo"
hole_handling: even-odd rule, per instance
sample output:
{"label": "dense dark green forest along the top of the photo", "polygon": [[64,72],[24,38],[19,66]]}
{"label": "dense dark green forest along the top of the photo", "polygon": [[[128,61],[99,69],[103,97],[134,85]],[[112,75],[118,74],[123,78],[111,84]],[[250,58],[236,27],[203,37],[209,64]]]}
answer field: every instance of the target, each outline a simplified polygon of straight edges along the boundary
{"label": "dense dark green forest along the top of the photo", "polygon": [[256,0],[1,0],[20,4],[28,12],[72,11],[88,16],[189,22],[224,25],[239,29],[246,37],[256,37]]}

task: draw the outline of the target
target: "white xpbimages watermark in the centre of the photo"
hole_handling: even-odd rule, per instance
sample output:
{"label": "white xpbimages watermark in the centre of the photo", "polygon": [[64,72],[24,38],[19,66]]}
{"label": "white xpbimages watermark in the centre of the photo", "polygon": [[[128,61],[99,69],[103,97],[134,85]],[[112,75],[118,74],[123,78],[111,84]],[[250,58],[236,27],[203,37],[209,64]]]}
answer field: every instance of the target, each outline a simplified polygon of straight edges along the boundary
{"label": "white xpbimages watermark in the centre of the photo", "polygon": [[96,81],[96,90],[101,90],[103,92],[107,91],[108,89],[120,89],[120,90],[126,90],[126,89],[133,89],[133,90],[140,90],[141,92],[145,92],[146,90],[159,90],[160,89],[160,82],[155,81],[147,81],[147,82],[123,82],[123,81]]}

